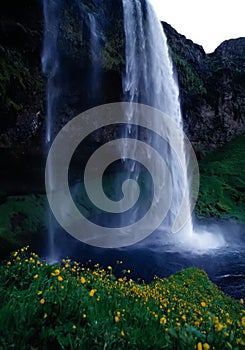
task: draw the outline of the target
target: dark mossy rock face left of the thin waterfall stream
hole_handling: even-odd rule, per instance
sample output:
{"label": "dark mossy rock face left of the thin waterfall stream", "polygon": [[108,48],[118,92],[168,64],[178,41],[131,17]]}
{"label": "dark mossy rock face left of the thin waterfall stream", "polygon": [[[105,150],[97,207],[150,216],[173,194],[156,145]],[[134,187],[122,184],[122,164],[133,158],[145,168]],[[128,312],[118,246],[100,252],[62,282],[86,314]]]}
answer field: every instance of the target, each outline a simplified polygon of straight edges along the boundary
{"label": "dark mossy rock face left of the thin waterfall stream", "polygon": [[39,1],[0,4],[0,150],[30,146],[41,124],[41,11]]}

